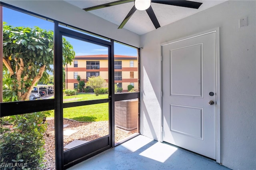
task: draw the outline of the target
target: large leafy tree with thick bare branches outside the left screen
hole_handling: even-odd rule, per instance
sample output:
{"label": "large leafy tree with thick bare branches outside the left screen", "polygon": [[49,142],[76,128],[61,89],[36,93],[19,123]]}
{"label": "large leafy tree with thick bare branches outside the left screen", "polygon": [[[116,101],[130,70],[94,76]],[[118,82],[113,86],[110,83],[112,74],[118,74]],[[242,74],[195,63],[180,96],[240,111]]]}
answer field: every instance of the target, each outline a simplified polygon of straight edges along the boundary
{"label": "large leafy tree with thick bare branches outside the left screen", "polygon": [[[28,100],[38,81],[47,83],[53,72],[53,31],[39,27],[3,26],[3,89],[4,101]],[[62,39],[63,65],[71,64],[75,52],[72,45]]]}

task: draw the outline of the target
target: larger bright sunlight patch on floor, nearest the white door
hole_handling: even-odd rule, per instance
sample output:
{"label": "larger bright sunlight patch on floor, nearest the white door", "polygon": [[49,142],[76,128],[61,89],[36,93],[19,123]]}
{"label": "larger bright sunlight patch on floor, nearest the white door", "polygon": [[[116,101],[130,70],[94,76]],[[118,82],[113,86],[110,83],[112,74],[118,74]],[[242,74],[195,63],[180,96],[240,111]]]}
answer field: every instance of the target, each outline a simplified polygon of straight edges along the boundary
{"label": "larger bright sunlight patch on floor, nearest the white door", "polygon": [[157,142],[141,152],[140,155],[164,163],[176,150],[177,148],[173,146]]}

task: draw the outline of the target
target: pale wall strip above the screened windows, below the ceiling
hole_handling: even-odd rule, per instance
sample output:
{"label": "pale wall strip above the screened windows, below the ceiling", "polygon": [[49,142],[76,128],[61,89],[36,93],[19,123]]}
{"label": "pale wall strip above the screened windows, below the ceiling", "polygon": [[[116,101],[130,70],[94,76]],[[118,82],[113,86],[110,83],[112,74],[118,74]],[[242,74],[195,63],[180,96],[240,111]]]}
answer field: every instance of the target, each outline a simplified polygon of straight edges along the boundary
{"label": "pale wall strip above the screened windows, below the ceiling", "polygon": [[42,16],[139,47],[140,36],[62,0],[1,0]]}

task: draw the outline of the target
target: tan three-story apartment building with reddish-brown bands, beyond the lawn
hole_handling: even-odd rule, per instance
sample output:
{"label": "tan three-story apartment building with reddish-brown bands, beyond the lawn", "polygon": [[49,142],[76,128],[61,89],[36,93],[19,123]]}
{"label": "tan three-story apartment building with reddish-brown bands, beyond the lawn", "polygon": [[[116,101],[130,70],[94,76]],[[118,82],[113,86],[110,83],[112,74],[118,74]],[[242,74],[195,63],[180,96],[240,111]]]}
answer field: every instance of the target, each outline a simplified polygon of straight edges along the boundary
{"label": "tan three-story apartment building with reddish-brown bands, beyond the lawn", "polygon": [[[114,82],[117,86],[123,89],[122,92],[128,91],[128,85],[138,90],[138,57],[114,55],[114,60]],[[78,86],[77,75],[85,82],[92,76],[101,76],[108,82],[108,55],[75,56],[72,64],[65,66],[66,89]]]}

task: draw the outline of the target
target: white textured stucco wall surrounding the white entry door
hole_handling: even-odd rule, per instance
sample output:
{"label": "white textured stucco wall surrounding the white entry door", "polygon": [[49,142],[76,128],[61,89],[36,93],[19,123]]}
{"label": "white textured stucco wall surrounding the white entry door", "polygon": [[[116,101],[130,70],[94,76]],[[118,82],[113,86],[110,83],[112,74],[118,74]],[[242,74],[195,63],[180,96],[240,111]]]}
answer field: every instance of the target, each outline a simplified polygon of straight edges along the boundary
{"label": "white textured stucco wall surrounding the white entry door", "polygon": [[255,23],[256,1],[228,1],[142,35],[141,133],[161,140],[160,44],[220,27],[220,161],[256,169]]}

